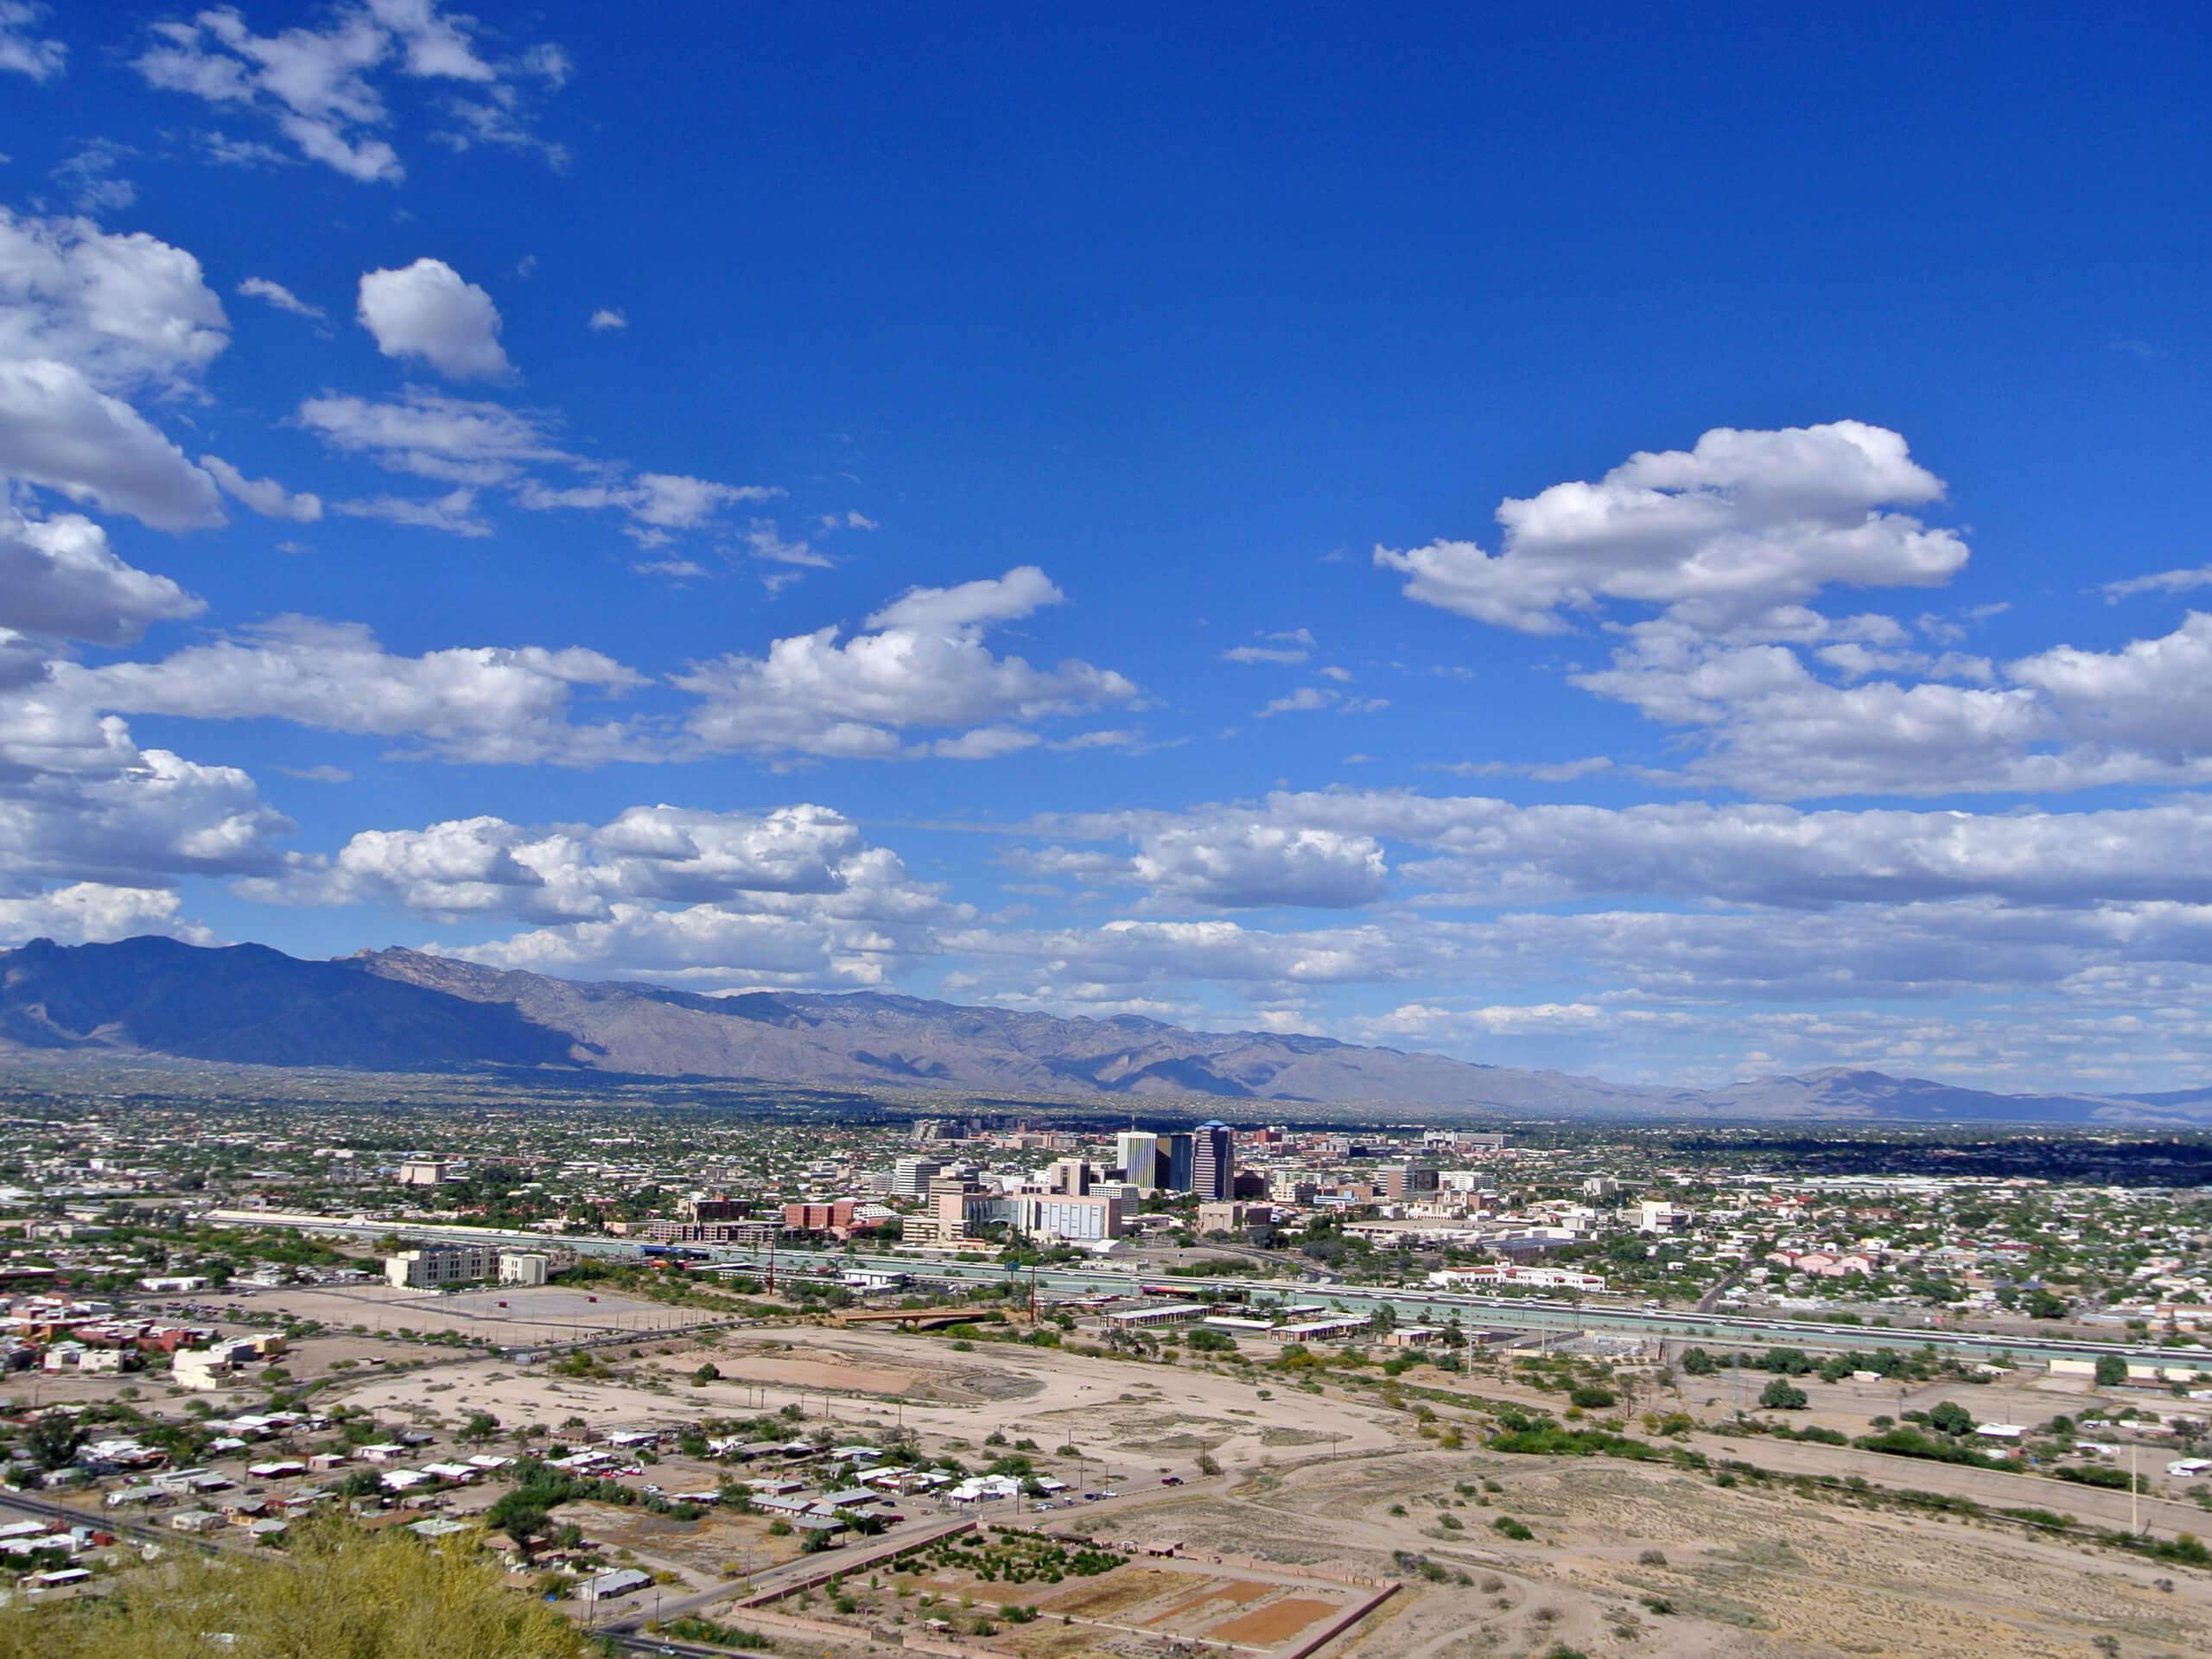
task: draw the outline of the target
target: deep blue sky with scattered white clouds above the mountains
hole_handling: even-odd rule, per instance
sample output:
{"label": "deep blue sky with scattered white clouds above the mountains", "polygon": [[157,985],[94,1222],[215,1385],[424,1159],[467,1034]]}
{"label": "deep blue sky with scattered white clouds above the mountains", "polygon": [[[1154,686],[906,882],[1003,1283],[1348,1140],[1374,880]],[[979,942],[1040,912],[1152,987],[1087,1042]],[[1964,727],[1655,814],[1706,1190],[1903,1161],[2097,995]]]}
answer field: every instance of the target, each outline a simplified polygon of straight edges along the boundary
{"label": "deep blue sky with scattered white clouds above the mountains", "polygon": [[0,938],[2199,1084],[2192,24],[0,0]]}

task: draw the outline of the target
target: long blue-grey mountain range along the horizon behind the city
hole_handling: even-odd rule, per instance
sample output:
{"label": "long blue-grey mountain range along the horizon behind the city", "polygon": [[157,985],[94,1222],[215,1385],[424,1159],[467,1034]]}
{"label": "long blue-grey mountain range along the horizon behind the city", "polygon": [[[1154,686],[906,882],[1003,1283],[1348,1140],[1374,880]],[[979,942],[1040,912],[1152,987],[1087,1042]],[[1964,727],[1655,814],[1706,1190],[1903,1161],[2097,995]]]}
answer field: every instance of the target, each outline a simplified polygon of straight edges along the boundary
{"label": "long blue-grey mountain range along the horizon behind the city", "polygon": [[1064,1020],[922,998],[573,982],[420,951],[305,962],[265,945],[31,940],[0,951],[0,1044],[254,1066],[557,1068],[803,1088],[1168,1095],[1394,1115],[2203,1124],[2212,1091],[1995,1095],[1827,1068],[1717,1091],[1480,1066],[1263,1031]]}

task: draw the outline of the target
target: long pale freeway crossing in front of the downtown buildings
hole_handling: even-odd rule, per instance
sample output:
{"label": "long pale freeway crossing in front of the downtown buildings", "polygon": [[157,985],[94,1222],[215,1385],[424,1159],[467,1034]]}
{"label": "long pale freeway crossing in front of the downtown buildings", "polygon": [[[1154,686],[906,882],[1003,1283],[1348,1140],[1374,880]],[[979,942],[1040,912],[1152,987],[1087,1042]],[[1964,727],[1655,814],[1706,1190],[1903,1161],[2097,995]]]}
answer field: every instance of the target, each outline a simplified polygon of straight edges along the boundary
{"label": "long pale freeway crossing in front of the downtown buildings", "polygon": [[[323,1232],[356,1239],[383,1239],[398,1232],[407,1239],[489,1243],[511,1250],[575,1250],[586,1256],[613,1261],[639,1261],[641,1250],[628,1239],[599,1237],[551,1237],[544,1232],[498,1232],[493,1228],[447,1228],[398,1221],[376,1221],[369,1217],[314,1217],[279,1210],[210,1210],[208,1221],[217,1225],[254,1228],[299,1228],[301,1232]],[[686,1245],[710,1263],[754,1263],[765,1267],[770,1256],[783,1272],[805,1272],[810,1267],[878,1267],[902,1272],[909,1279],[940,1285],[978,1285],[1006,1276],[1018,1276],[1026,1287],[1031,1279],[1040,1292],[1066,1296],[1126,1296],[1137,1290],[1137,1272],[1126,1265],[1053,1265],[1029,1270],[1000,1267],[998,1263],[936,1263],[914,1256],[891,1254],[847,1254],[843,1250],[752,1250],[741,1245]],[[1871,1352],[1878,1347],[1931,1345],[1938,1354],[1955,1354],[1966,1360],[2039,1358],[2039,1360],[2097,1360],[2117,1354],[2137,1365],[2185,1367],[2199,1380],[2212,1383],[2212,1352],[2168,1349],[2128,1343],[2097,1343],[2075,1336],[1989,1336],[1982,1332],[1924,1332],[1885,1329],[1880,1325],[1832,1325],[1805,1318],[1759,1318],[1754,1314],[1699,1314],[1694,1310],[1670,1307],[1626,1307],[1613,1303],[1568,1303],[1537,1296],[1475,1296],[1471,1292],[1444,1290],[1391,1290],[1383,1285],[1312,1285],[1285,1283],[1281,1279],[1192,1279],[1190,1292],[1243,1290],[1261,1296],[1285,1292],[1327,1301],[1347,1314],[1376,1314],[1389,1307],[1398,1321],[1440,1325],[1458,1316],[1462,1325],[1489,1329],[1520,1329],[1531,1334],[1582,1334],[1601,1332],[1606,1336],[1657,1336],[1670,1343],[1701,1343],[1705,1347],[1823,1347],[1843,1352]]]}

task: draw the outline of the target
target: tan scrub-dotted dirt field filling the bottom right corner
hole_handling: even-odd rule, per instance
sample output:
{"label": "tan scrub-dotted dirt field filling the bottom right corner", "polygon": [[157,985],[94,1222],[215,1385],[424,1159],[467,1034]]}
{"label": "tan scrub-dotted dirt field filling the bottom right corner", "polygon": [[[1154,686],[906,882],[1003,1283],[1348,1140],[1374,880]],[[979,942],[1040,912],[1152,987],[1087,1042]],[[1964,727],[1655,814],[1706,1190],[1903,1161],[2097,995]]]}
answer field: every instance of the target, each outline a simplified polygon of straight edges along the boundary
{"label": "tan scrub-dotted dirt field filling the bottom right corner", "polygon": [[[1484,1493],[1484,1478],[1502,1491]],[[1500,1515],[1533,1537],[1502,1537],[1491,1526]],[[2146,1655],[2212,1644],[2203,1573],[2084,1553],[2013,1526],[1916,1520],[1787,1486],[1730,1491],[1597,1458],[1407,1451],[1164,1504],[1144,1522],[1190,1548],[1407,1573],[1409,1593],[1349,1639],[1345,1652],[1363,1659],[1540,1655],[1555,1644],[1593,1659],[2057,1659],[2093,1652],[2104,1635]],[[1219,1626],[1210,1635],[1239,1639]]]}

